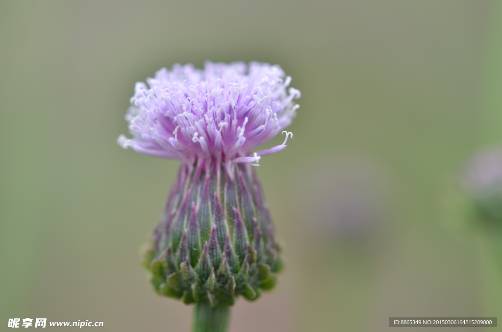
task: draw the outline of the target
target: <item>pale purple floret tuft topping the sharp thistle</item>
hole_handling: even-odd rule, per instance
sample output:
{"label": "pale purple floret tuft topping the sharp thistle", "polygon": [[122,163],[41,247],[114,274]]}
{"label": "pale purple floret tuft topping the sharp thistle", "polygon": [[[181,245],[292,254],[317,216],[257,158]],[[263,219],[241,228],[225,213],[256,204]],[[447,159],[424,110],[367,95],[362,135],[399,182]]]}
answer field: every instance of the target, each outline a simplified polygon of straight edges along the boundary
{"label": "pale purple floret tuft topping the sharp thistle", "polygon": [[256,165],[260,156],[284,149],[293,137],[283,131],[283,144],[252,153],[296,115],[299,105],[293,99],[300,91],[287,91],[290,82],[281,67],[257,62],[162,68],[147,79],[148,86],[136,83],[126,115],[133,138],[120,135],[117,142],[170,159],[215,157]]}

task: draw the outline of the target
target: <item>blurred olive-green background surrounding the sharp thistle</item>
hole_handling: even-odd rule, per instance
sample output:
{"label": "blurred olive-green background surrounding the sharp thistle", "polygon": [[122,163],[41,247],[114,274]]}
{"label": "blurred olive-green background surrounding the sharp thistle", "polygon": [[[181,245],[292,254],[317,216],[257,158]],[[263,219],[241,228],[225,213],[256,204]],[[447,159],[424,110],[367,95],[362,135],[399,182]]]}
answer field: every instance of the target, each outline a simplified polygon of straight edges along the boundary
{"label": "blurred olive-green background surrounding the sharp thistle", "polygon": [[302,92],[294,140],[258,170],[287,269],[237,302],[230,331],[502,317],[483,239],[444,229],[437,203],[445,177],[502,141],[499,3],[2,1],[1,330],[189,330],[192,308],[157,296],[138,255],[178,163],[115,140],[135,82],[207,59],[280,64]]}

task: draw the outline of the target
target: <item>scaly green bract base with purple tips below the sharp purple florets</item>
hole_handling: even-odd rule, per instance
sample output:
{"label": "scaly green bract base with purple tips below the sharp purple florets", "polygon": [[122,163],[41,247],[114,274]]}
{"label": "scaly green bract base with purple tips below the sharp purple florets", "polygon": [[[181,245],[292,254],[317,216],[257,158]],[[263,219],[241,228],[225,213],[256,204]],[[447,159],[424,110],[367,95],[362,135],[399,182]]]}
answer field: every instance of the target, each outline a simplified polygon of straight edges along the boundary
{"label": "scaly green bract base with purple tips below the sharp purple florets", "polygon": [[200,158],[181,165],[144,265],[160,294],[232,305],[275,287],[280,251],[254,168]]}

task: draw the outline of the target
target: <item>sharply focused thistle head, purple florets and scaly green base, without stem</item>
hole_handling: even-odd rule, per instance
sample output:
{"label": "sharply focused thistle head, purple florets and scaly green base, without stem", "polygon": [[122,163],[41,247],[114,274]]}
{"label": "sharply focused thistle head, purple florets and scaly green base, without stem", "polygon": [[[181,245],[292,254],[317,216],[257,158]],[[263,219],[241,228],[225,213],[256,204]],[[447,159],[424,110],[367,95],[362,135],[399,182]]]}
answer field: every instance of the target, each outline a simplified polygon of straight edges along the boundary
{"label": "sharply focused thistle head, purple florets and scaly green base, without stem", "polygon": [[[286,147],[300,92],[279,66],[241,62],[161,69],[137,83],[124,147],[182,161],[144,256],[155,290],[231,305],[275,286],[281,248],[253,167]],[[284,142],[253,152],[278,133]]]}

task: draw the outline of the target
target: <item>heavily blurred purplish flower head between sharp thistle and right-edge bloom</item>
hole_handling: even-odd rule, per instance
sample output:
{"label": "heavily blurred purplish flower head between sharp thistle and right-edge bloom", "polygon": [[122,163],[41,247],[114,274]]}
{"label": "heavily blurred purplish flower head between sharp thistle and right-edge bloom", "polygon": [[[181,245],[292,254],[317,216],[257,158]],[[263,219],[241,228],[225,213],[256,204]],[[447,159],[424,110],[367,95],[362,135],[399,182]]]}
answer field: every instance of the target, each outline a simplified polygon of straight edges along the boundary
{"label": "heavily blurred purplish flower head between sharp thistle and right-edge bloom", "polygon": [[387,179],[371,158],[338,154],[312,165],[305,174],[303,210],[313,232],[331,238],[365,238],[386,218]]}

